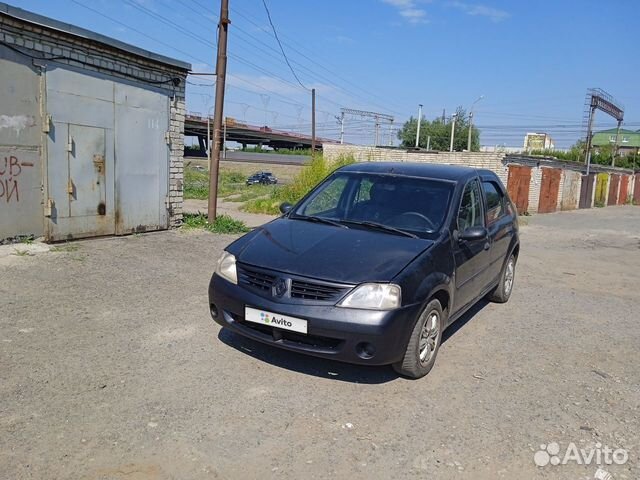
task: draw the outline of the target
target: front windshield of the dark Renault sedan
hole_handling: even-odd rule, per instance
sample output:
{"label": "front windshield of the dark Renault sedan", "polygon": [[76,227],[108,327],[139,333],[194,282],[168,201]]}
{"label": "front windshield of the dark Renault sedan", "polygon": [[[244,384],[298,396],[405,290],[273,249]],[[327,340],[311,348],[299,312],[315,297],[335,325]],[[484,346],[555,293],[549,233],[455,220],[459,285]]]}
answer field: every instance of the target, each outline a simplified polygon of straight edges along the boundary
{"label": "front windshield of the dark Renault sedan", "polygon": [[323,218],[421,236],[440,230],[452,191],[453,184],[446,181],[338,172],[318,186],[291,218]]}

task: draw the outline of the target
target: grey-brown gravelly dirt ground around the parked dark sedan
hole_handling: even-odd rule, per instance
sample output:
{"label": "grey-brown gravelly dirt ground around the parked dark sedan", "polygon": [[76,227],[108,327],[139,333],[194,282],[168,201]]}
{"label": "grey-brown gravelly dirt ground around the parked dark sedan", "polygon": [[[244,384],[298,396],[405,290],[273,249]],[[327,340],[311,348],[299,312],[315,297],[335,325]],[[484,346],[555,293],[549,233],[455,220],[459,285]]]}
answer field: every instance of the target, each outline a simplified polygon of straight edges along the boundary
{"label": "grey-brown gravelly dirt ground around the parked dark sedan", "polygon": [[0,478],[594,478],[536,466],[552,442],[625,449],[603,468],[640,478],[640,208],[527,220],[510,302],[455,323],[417,381],[221,331],[231,236],[0,258]]}

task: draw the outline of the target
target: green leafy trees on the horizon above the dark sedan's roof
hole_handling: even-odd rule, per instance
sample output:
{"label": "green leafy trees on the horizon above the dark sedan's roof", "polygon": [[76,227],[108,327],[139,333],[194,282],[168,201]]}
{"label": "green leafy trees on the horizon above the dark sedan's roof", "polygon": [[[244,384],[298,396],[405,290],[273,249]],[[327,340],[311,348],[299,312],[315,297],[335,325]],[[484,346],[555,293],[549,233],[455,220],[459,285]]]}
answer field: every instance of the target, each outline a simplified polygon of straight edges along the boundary
{"label": "green leafy trees on the horizon above the dark sedan's roof", "polygon": [[[418,129],[418,119],[411,117],[405,122],[400,131],[398,132],[398,139],[401,141],[401,145],[405,148],[415,147],[416,144],[416,131]],[[469,136],[469,115],[462,108],[458,107],[456,110],[456,127],[453,137],[453,150],[461,152],[467,149],[467,142]],[[431,137],[431,141],[428,139]],[[442,121],[441,117],[434,120],[427,120],[422,117],[420,122],[420,141],[419,146],[421,148],[429,148],[431,150],[437,150],[440,152],[449,151],[449,142],[451,141],[451,118]],[[471,151],[477,152],[480,150],[480,131],[473,127],[471,131]]]}

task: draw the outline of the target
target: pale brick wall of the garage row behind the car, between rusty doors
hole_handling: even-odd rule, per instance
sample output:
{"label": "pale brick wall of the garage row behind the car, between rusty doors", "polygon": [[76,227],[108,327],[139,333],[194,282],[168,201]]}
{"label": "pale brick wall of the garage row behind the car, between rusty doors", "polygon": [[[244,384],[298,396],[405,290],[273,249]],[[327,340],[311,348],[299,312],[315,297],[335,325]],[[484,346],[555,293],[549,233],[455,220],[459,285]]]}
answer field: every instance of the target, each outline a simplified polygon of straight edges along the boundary
{"label": "pale brick wall of the garage row behind the car, between rusty doors", "polygon": [[[566,205],[576,205],[580,197],[581,181],[577,180],[577,191],[565,189],[564,184],[569,175],[575,176],[584,173],[584,165],[576,162],[559,161],[552,158],[528,157],[523,155],[512,155],[504,152],[408,152],[400,149],[376,148],[359,145],[329,145],[323,146],[325,158],[336,160],[341,156],[353,156],[359,162],[425,162],[443,163],[450,165],[464,165],[474,168],[485,168],[494,171],[500,180],[507,185],[509,177],[509,165],[524,165],[531,168],[531,183],[529,185],[529,206],[528,213],[537,213],[540,202],[540,187],[542,183],[542,172],[544,168],[561,169],[560,186],[556,201],[557,210],[562,209],[563,194],[571,195],[567,199]],[[622,168],[603,167],[594,165],[594,172],[604,172],[607,174],[616,173],[631,175],[629,177],[629,194],[633,195],[632,185],[634,183],[633,172]],[[576,181],[576,180],[574,180]],[[595,193],[595,188],[593,189]],[[574,198],[577,195],[576,198]],[[592,200],[593,205],[593,200]]]}

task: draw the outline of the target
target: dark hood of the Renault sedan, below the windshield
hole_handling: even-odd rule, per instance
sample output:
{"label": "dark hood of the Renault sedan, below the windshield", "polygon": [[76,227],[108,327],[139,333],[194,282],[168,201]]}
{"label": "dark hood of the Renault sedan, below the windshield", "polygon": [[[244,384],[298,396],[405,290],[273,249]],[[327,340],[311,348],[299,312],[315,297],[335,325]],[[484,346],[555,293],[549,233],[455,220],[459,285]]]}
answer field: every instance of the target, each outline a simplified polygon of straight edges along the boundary
{"label": "dark hood of the Renault sedan, below the windshield", "polygon": [[232,243],[241,263],[357,284],[388,282],[433,241],[279,218]]}

